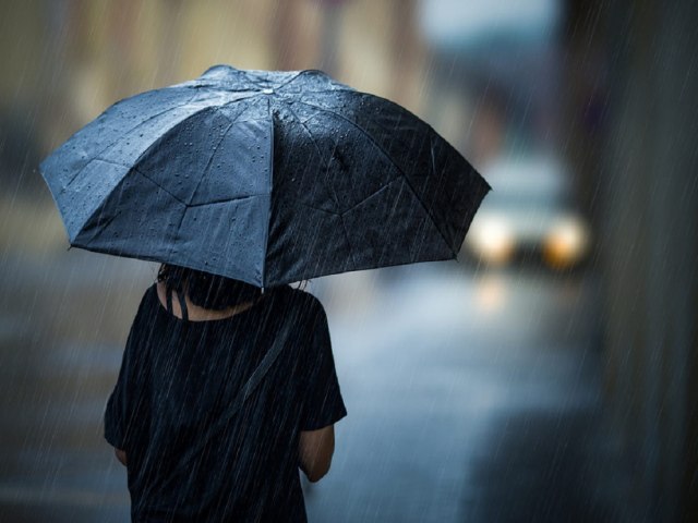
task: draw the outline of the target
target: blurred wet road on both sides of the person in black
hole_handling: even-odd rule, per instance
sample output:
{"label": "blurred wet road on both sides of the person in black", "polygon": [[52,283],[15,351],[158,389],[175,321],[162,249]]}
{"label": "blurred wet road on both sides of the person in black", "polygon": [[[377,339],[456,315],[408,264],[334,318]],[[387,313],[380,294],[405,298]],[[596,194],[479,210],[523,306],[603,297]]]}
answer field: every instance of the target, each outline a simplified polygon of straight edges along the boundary
{"label": "blurred wet road on both sides of the person in black", "polygon": [[[74,252],[3,267],[0,521],[128,521],[100,417],[153,270]],[[349,412],[310,521],[625,520],[593,275],[424,264],[309,290]]]}

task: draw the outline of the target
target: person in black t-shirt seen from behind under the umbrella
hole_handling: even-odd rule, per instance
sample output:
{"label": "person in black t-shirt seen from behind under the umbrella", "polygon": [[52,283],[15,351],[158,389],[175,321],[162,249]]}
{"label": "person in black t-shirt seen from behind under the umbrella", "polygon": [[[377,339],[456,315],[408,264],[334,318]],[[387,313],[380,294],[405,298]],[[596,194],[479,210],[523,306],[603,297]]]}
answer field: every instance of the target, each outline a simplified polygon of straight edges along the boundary
{"label": "person in black t-shirt seen from behind under the umbrella", "polygon": [[127,466],[132,521],[304,522],[299,469],[310,482],[327,473],[346,415],[316,297],[163,265],[133,320],[105,438]]}

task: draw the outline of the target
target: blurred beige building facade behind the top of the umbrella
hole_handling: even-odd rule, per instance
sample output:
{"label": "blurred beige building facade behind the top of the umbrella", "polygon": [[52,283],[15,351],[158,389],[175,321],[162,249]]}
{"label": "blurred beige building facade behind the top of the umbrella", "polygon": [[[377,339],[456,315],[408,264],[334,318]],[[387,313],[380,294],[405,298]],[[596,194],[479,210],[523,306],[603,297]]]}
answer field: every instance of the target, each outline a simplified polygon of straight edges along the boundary
{"label": "blurred beige building facade behind the top of the umbrella", "polygon": [[33,0],[0,25],[0,113],[31,111],[45,154],[115,101],[216,63],[323,69],[418,113],[428,77],[414,0]]}

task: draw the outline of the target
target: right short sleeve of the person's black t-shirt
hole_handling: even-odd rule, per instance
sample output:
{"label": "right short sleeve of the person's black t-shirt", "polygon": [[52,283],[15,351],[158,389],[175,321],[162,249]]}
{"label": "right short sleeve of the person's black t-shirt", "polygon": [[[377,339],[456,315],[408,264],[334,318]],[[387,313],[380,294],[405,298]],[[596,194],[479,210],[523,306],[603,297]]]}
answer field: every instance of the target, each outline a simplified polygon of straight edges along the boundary
{"label": "right short sleeve of the person's black t-shirt", "polygon": [[301,430],[316,430],[333,425],[347,415],[332,352],[327,316],[322,304],[313,300],[310,343],[305,348],[303,409]]}

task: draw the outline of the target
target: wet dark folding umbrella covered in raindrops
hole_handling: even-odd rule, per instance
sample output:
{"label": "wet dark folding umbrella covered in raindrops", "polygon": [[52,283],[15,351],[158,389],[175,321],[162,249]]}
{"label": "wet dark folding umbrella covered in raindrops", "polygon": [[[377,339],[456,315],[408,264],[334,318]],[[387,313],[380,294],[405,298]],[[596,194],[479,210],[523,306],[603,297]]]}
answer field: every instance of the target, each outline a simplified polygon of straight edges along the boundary
{"label": "wet dark folding umbrella covered in raindrops", "polygon": [[397,104],[228,65],[115,104],[40,170],[71,245],[257,287],[453,259],[492,188]]}

